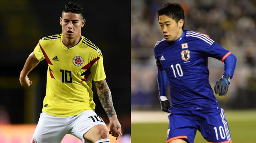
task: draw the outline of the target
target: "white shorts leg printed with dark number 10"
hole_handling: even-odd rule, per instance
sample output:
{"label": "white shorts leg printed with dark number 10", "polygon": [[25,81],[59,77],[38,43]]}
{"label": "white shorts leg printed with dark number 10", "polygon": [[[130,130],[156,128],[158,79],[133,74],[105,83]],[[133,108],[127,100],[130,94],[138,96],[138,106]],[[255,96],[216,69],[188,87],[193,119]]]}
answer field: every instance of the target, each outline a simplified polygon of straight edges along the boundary
{"label": "white shorts leg printed with dark number 10", "polygon": [[[69,134],[76,136],[83,142],[89,142],[88,140],[84,139],[84,134],[88,132],[88,130],[90,130],[92,127],[96,125],[102,125],[102,127],[107,130],[106,124],[102,118],[97,116],[93,110],[86,110],[79,115],[74,116],[71,120],[71,130],[69,131]],[[87,139],[91,140],[91,138]]]}

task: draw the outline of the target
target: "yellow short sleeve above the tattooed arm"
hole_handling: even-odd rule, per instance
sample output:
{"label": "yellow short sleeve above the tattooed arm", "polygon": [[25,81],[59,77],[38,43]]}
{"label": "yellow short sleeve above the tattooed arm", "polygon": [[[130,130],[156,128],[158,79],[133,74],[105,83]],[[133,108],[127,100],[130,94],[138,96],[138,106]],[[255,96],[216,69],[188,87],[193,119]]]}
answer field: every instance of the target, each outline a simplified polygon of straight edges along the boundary
{"label": "yellow short sleeve above the tattooed arm", "polygon": [[97,60],[97,62],[95,62],[91,67],[93,81],[100,81],[106,78],[106,74],[103,66],[103,56],[99,56],[98,58],[99,60]]}

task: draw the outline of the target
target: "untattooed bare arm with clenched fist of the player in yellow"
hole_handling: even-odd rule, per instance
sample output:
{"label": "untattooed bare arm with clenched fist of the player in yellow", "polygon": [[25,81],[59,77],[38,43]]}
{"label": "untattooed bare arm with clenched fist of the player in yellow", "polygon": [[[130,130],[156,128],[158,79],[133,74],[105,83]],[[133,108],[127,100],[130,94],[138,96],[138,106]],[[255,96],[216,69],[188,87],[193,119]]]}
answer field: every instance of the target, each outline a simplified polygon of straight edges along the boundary
{"label": "untattooed bare arm with clenched fist of the player in yellow", "polygon": [[39,62],[40,61],[37,60],[34,52],[31,52],[24,64],[22,71],[20,72],[20,84],[22,86],[29,87],[32,84],[32,81],[29,80],[27,75],[32,69],[34,69],[35,66],[37,66]]}

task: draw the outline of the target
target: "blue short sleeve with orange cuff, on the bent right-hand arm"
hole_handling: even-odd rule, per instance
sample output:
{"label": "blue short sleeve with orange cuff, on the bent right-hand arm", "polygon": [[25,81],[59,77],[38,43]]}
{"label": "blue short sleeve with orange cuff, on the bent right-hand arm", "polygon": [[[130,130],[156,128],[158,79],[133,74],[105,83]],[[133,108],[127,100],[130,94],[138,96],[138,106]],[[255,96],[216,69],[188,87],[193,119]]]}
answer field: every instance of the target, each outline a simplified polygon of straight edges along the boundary
{"label": "blue short sleeve with orange cuff, on the bent right-hand arm", "polygon": [[216,58],[218,60],[221,60],[229,52],[216,42],[212,43],[212,45],[201,42],[197,49],[205,52],[207,56]]}

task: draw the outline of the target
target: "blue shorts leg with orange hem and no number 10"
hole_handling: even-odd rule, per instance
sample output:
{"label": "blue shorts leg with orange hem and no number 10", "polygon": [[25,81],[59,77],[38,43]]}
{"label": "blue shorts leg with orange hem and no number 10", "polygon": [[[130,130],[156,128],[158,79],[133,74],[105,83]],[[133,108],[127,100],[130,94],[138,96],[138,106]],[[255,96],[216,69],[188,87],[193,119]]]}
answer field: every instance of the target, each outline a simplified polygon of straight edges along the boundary
{"label": "blue shorts leg with orange hem and no number 10", "polygon": [[[193,143],[196,135],[196,123],[190,109],[172,109],[168,116],[169,126],[167,130],[166,142],[183,139]],[[182,143],[182,142],[181,142]]]}

